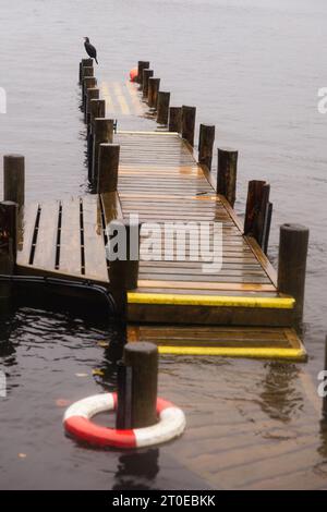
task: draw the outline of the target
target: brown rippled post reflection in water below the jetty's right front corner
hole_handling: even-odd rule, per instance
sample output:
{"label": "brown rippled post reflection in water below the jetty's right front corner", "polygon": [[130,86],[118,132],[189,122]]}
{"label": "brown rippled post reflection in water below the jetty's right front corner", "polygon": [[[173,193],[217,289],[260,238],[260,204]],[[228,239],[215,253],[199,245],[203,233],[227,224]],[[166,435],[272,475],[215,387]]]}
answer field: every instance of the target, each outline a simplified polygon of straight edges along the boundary
{"label": "brown rippled post reflection in water below the jetty's right front corner", "polygon": [[291,420],[293,409],[303,397],[296,391],[299,368],[290,363],[271,362],[263,381],[262,410],[272,419]]}

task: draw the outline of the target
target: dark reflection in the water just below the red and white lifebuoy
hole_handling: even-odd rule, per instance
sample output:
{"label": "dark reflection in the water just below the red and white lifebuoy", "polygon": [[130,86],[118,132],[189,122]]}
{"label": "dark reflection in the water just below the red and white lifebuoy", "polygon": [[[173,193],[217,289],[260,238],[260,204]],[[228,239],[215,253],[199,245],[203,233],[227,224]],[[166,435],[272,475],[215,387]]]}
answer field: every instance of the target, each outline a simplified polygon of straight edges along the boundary
{"label": "dark reflection in the water just below the red and white lifebuoy", "polygon": [[123,454],[119,459],[112,490],[143,490],[153,488],[159,473],[159,450]]}

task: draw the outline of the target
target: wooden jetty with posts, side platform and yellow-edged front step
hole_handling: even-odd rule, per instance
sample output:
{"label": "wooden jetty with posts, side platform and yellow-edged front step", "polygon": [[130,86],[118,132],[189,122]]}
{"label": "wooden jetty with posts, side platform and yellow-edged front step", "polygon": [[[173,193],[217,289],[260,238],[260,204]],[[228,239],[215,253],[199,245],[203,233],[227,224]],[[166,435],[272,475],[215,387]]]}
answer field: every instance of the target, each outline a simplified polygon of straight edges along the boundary
{"label": "wooden jetty with posts, side platform and yellow-edged front step", "polygon": [[[154,78],[146,73],[145,76],[150,89]],[[90,81],[90,76],[87,74],[84,80]],[[89,90],[95,83],[89,82]],[[90,111],[90,118],[86,114],[90,133],[95,126],[92,108],[101,101],[94,96],[98,95],[84,102]],[[95,194],[22,207],[15,272],[82,279],[110,288],[105,246],[106,227],[111,220],[137,214],[142,223],[162,227],[167,222],[219,224],[222,267],[217,273],[204,273],[201,258],[178,260],[177,249],[173,260],[166,260],[164,244],[154,251],[156,259],[148,260],[147,233],[142,227],[137,288],[128,293],[128,318],[136,326],[129,331],[131,340],[155,341],[161,353],[303,361],[305,350],[293,330],[295,298],[279,285],[263,244],[252,232],[245,234],[232,208],[232,162],[237,161],[237,154],[220,151],[221,166],[229,171],[225,180],[230,180],[234,168],[234,183],[227,186],[220,178],[219,184],[218,176],[218,190],[225,185],[227,190],[217,193],[205,132],[198,158],[193,148],[195,110],[185,109],[182,133],[118,131],[108,141],[100,141],[120,148],[118,184],[113,190],[105,186]],[[175,115],[175,109],[173,112]],[[247,222],[249,219],[247,215]],[[210,243],[211,237],[213,231]],[[186,256],[190,252],[186,241]]]}

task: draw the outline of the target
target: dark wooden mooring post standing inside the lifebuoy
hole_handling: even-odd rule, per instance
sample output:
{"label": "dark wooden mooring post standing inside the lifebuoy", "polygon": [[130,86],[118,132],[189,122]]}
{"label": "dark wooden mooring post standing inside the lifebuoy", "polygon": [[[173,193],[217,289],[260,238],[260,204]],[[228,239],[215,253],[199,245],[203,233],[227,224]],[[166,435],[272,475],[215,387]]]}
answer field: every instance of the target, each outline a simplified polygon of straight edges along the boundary
{"label": "dark wooden mooring post standing inside the lifebuoy", "polygon": [[117,428],[155,425],[158,422],[158,348],[147,342],[128,343],[124,346],[123,365],[125,371],[119,382],[123,385],[123,392],[120,386]]}

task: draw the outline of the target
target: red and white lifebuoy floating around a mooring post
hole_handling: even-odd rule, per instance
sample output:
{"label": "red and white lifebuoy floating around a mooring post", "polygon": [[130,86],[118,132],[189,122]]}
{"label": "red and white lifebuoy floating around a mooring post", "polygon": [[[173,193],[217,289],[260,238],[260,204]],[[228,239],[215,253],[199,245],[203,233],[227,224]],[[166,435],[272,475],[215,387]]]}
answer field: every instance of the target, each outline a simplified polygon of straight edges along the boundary
{"label": "red and white lifebuoy floating around a mooring post", "polygon": [[170,441],[180,436],[186,425],[183,411],[162,399],[157,400],[159,422],[150,427],[118,430],[90,420],[96,414],[116,409],[117,393],[96,394],[80,400],[66,410],[64,428],[76,439],[97,447],[144,448]]}

